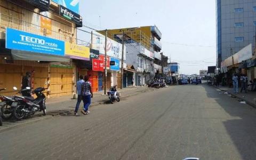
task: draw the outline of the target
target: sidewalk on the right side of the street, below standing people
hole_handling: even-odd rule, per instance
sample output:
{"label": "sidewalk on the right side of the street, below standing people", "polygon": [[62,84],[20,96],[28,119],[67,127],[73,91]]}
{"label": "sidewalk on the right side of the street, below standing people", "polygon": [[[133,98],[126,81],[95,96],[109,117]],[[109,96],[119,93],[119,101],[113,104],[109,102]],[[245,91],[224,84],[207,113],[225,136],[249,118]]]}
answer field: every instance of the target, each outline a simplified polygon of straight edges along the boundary
{"label": "sidewalk on the right side of the street, below standing people", "polygon": [[[245,101],[248,105],[256,108],[256,92],[248,91],[247,93],[244,93],[243,91],[243,93],[234,94],[233,88],[226,87],[226,86],[219,86],[217,88],[220,89],[221,91],[231,94],[233,97],[236,97],[238,99]],[[239,88],[238,91],[240,92],[241,88]]]}

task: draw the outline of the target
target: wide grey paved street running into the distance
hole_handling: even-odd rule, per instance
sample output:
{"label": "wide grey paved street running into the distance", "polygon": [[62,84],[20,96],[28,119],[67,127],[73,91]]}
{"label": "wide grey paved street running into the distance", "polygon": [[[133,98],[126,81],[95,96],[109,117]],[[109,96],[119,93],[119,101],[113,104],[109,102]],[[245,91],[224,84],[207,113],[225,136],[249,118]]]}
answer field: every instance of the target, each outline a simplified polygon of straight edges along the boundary
{"label": "wide grey paved street running into the distance", "polygon": [[0,133],[0,159],[255,159],[256,109],[214,87],[141,93]]}

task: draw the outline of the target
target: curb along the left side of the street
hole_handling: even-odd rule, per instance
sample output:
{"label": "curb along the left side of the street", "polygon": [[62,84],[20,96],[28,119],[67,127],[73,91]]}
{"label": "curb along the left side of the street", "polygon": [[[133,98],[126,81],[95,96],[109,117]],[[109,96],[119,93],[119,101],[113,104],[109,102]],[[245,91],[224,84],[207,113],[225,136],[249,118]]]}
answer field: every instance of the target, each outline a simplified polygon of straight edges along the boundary
{"label": "curb along the left side of the street", "polygon": [[[154,90],[149,90],[149,91],[154,91]],[[147,91],[145,91],[145,92],[147,92]],[[121,97],[120,99],[122,100],[124,98],[132,97],[134,95],[138,95],[140,93],[145,93],[145,92],[132,93],[132,94],[126,95],[124,97]],[[99,106],[99,105],[106,105],[107,102],[108,102],[108,100],[105,101],[105,102],[94,102],[94,104],[92,104],[90,107]],[[59,116],[59,115],[65,114],[68,111],[74,111],[74,109],[63,109],[63,110],[49,111],[49,113],[47,113],[46,116],[42,116],[42,117],[40,117],[38,119],[31,119],[31,121],[14,124],[14,125],[11,125],[11,126],[4,127],[3,129],[1,129],[1,127],[0,127],[0,133],[8,131],[8,130],[11,130],[11,129],[14,129],[14,128],[22,127],[23,125],[26,125],[26,124],[33,124],[33,123],[36,123],[38,121],[42,121],[43,119],[53,118],[55,116]],[[12,122],[10,122],[10,123],[12,123]]]}

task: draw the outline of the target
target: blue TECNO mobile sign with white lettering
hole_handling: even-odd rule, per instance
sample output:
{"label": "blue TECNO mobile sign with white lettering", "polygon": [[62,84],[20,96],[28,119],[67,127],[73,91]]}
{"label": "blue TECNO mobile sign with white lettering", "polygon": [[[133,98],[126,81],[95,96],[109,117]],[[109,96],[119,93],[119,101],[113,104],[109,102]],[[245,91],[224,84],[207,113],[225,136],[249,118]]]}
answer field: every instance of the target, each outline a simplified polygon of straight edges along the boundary
{"label": "blue TECNO mobile sign with white lettering", "polygon": [[65,42],[25,31],[6,28],[6,49],[65,55]]}

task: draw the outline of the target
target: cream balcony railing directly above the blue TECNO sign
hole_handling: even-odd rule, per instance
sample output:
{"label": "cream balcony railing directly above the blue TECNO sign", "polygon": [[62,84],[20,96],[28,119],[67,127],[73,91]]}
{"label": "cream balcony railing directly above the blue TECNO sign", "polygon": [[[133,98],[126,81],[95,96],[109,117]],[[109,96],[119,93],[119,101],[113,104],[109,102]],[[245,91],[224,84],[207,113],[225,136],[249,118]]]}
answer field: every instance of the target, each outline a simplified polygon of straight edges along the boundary
{"label": "cream balcony railing directly above the blue TECNO sign", "polygon": [[[65,31],[61,28],[58,28],[58,31],[49,30],[49,29],[43,28],[41,26],[35,25],[33,23],[11,17],[10,15],[6,15],[3,13],[0,13],[0,20],[1,20],[0,21],[0,31],[2,31],[2,32],[5,32],[5,28],[8,27],[8,28],[21,30],[21,31],[26,31],[28,33],[32,33],[32,34],[36,34],[36,35],[59,39],[61,41],[65,41],[65,42],[77,43],[80,45],[90,46],[90,43],[85,42],[81,39],[75,38],[74,34],[71,34],[68,31]],[[52,22],[53,22],[53,20],[52,20]],[[55,27],[55,29],[57,29],[57,27]],[[71,29],[71,30],[73,30],[73,29]]]}

